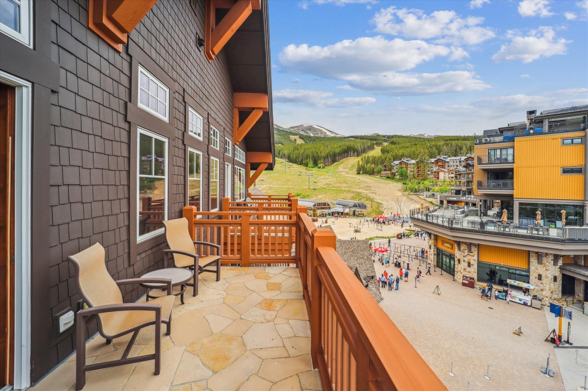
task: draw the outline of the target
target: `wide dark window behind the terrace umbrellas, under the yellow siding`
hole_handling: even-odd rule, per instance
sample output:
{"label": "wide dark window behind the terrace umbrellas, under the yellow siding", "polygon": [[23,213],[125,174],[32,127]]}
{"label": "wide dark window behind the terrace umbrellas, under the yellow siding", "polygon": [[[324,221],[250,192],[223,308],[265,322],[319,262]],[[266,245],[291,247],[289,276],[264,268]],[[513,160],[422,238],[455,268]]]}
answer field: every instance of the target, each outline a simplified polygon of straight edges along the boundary
{"label": "wide dark window behind the terrace umbrellas, under the yellow siding", "polygon": [[562,210],[566,211],[566,226],[584,225],[584,211],[581,205],[539,203],[519,204],[519,224],[529,223],[530,220],[535,221],[537,211],[541,211],[543,225],[562,227]]}

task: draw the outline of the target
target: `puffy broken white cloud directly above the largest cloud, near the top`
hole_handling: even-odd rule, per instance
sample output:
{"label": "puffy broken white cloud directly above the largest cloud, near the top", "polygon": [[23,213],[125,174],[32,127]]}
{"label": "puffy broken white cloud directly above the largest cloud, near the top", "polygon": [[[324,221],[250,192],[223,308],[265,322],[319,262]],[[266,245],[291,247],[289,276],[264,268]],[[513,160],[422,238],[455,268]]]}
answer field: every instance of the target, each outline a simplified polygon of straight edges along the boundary
{"label": "puffy broken white cloud directly above the largest cloud, near the top", "polygon": [[496,36],[492,29],[480,26],[484,18],[462,18],[455,11],[435,11],[427,15],[420,9],[391,6],[376,12],[372,22],[377,32],[406,38],[435,38],[437,43],[454,45],[477,45]]}

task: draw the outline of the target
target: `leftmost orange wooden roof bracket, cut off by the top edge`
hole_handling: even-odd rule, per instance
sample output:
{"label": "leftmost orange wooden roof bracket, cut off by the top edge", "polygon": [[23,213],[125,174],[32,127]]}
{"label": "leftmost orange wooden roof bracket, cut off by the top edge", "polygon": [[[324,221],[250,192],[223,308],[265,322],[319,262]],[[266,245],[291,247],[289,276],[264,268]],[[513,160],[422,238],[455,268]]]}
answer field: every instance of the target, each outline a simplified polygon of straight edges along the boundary
{"label": "leftmost orange wooden roof bracket, cut off by the top edge", "polygon": [[122,52],[129,33],[147,15],[157,0],[89,0],[88,28]]}

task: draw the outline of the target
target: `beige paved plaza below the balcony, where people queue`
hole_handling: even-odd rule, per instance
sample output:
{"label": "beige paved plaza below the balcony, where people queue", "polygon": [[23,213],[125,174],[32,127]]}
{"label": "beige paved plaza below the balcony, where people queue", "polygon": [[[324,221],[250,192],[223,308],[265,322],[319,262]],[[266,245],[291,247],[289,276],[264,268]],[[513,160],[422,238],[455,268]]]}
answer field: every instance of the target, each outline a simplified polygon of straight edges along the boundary
{"label": "beige paved plaza below the balcony, where people queue", "polygon": [[[387,245],[387,240],[376,242]],[[414,238],[394,242],[419,247],[426,243]],[[422,277],[415,288],[419,262],[414,263],[409,282],[400,282],[398,291],[380,288],[384,296],[380,306],[450,390],[466,390],[468,382],[472,391],[564,389],[553,346],[544,342],[552,328],[543,310],[506,305],[503,300],[483,301],[477,288],[462,286],[445,272],[440,275],[440,269],[432,268],[432,275]],[[377,275],[384,270],[376,261]],[[422,270],[424,274],[424,264]],[[387,271],[398,273],[393,264]],[[437,285],[440,295],[433,294]],[[513,334],[519,326],[522,336]],[[547,353],[553,378],[540,372]],[[455,376],[448,374],[452,361]],[[490,380],[484,378],[488,365]]]}

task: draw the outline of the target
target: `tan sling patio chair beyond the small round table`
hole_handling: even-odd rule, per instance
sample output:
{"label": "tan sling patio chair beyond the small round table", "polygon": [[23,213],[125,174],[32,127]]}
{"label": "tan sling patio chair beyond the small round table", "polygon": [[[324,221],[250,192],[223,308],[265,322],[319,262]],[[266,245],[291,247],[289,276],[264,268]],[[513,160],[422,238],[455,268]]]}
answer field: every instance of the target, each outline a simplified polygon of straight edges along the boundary
{"label": "tan sling patio chair beyond the small round table", "polygon": [[[168,241],[169,250],[163,250],[164,254],[173,255],[173,264],[176,268],[188,268],[193,271],[192,296],[198,295],[198,275],[203,272],[216,273],[216,281],[220,280],[220,245],[211,242],[192,241],[188,230],[188,219],[185,217],[175,220],[163,221],[165,227],[165,240]],[[198,253],[196,246],[207,246],[211,249],[207,254]],[[201,247],[201,250],[203,248]],[[216,248],[216,255],[212,255],[212,249]],[[215,269],[206,269],[215,266]]]}

